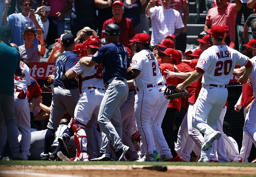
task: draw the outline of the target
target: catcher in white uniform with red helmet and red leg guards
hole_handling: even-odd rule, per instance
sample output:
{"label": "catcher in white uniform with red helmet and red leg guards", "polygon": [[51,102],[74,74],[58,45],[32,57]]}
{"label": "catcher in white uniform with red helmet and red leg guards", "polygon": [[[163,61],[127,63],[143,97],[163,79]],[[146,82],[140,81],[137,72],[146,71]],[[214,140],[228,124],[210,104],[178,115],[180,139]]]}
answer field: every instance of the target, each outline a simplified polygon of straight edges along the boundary
{"label": "catcher in white uniform with red helmet and red leg guards", "polygon": [[[100,48],[101,42],[98,36],[93,36],[83,43],[86,53],[92,56]],[[87,67],[79,62],[67,70],[65,76],[69,79],[79,75],[81,84],[81,96],[76,104],[74,112],[74,121],[72,130],[76,144],[76,157],[73,161],[89,161],[87,153],[87,134],[86,127],[88,121],[98,117],[101,100],[104,96],[104,84],[102,80],[102,64],[96,64],[94,67]],[[92,132],[91,132],[92,134]],[[92,139],[91,139],[92,140]],[[89,143],[92,143],[92,141]]]}

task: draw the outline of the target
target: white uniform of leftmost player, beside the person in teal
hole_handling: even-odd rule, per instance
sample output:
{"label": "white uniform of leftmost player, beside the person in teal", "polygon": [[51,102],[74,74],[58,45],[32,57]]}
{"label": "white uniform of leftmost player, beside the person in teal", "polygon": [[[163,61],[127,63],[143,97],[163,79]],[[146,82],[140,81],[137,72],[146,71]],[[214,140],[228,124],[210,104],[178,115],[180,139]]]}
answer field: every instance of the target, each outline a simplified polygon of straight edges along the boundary
{"label": "white uniform of leftmost player, beside the person in teal", "polygon": [[14,75],[14,117],[17,128],[20,128],[23,137],[21,139],[21,156],[28,159],[30,156],[30,113],[27,99],[27,86],[30,85],[29,67],[20,61],[20,69],[26,74],[24,78]]}

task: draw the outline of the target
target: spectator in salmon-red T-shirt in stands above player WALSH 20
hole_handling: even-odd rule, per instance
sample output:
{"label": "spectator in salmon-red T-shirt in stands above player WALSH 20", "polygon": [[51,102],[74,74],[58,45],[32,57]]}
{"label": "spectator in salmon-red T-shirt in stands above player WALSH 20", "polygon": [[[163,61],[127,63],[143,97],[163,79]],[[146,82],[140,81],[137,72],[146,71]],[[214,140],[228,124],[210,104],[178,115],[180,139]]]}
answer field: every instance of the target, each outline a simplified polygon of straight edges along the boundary
{"label": "spectator in salmon-red T-shirt in stands above player WALSH 20", "polygon": [[234,2],[227,4],[227,0],[216,1],[217,6],[209,9],[206,15],[204,31],[211,26],[225,24],[229,27],[230,41],[235,43],[236,14],[240,11],[242,2],[240,0]]}

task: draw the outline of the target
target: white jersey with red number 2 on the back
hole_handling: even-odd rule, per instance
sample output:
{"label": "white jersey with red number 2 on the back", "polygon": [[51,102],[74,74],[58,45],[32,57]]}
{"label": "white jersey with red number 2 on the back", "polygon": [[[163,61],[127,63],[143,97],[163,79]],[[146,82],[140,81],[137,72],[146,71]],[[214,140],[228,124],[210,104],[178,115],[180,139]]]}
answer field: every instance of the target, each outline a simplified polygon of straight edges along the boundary
{"label": "white jersey with red number 2 on the back", "polygon": [[132,59],[132,68],[140,70],[140,74],[133,80],[135,87],[148,84],[157,84],[157,77],[160,73],[158,62],[154,54],[149,50],[142,50],[136,53]]}

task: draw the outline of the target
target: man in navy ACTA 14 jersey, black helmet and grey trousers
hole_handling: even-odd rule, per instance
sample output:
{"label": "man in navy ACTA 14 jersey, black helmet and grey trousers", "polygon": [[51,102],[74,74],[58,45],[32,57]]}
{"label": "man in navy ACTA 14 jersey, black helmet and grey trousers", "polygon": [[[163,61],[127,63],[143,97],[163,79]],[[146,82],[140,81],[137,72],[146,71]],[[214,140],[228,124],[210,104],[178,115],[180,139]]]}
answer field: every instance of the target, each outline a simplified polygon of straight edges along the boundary
{"label": "man in navy ACTA 14 jersey, black helmet and grey trousers", "polygon": [[121,137],[110,121],[113,114],[119,110],[120,105],[126,100],[129,91],[126,77],[130,62],[126,48],[119,43],[120,31],[118,25],[108,24],[105,30],[102,31],[105,33],[108,44],[101,46],[94,56],[84,57],[79,61],[87,67],[92,67],[97,63],[103,65],[105,94],[98,114],[98,123],[101,131],[110,136],[109,138],[116,151],[116,161],[123,159],[129,149],[128,146],[123,145]]}

